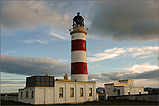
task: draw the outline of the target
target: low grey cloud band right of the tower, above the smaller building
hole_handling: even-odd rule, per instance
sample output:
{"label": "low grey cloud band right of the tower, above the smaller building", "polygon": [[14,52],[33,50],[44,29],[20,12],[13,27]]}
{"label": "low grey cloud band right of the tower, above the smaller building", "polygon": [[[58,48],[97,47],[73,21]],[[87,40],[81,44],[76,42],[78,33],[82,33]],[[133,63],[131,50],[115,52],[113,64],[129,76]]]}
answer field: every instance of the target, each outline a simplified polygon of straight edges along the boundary
{"label": "low grey cloud band right of the tower, above the smaller building", "polygon": [[121,79],[155,79],[158,78],[158,70],[146,71],[143,73],[130,72],[108,72],[97,74],[89,74],[89,80],[96,79],[98,83],[114,82]]}

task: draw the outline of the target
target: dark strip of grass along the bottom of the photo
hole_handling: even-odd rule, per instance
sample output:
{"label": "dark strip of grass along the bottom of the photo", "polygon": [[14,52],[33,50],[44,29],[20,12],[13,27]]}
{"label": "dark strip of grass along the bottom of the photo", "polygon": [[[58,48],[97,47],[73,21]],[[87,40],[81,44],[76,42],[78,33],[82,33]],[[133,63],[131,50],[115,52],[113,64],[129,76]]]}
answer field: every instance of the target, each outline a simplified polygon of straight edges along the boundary
{"label": "dark strip of grass along the bottom of the photo", "polygon": [[[13,102],[13,101],[1,101],[1,105],[15,105],[15,106],[22,106],[22,105],[28,105],[31,106],[30,104],[24,104],[20,102]],[[97,101],[97,102],[85,102],[85,103],[80,103],[80,104],[57,104],[57,105],[143,105],[143,106],[148,106],[148,105],[157,105],[158,102],[147,102],[147,101],[130,101],[130,100],[107,100],[107,101]],[[33,105],[32,105],[33,106]],[[36,106],[46,106],[46,105],[36,105]],[[55,106],[55,105],[47,105],[47,106]]]}

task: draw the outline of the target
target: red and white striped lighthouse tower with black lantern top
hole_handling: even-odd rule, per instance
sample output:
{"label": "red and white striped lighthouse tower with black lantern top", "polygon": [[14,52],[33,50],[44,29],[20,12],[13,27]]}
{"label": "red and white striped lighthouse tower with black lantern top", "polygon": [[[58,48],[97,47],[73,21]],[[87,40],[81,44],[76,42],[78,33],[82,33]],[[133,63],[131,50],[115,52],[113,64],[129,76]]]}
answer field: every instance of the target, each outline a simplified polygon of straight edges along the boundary
{"label": "red and white striped lighthouse tower with black lantern top", "polygon": [[73,28],[70,29],[71,38],[71,80],[88,81],[87,74],[87,52],[84,19],[77,13],[73,18]]}

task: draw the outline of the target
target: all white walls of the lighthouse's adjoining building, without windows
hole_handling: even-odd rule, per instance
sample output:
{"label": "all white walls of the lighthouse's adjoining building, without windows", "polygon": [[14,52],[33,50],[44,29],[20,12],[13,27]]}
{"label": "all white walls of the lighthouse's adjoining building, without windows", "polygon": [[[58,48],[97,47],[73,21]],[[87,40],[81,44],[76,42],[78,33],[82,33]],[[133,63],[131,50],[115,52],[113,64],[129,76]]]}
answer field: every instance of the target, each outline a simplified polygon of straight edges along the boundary
{"label": "all white walls of the lighthouse's adjoining building, without windows", "polygon": [[[60,87],[63,88],[63,97],[59,97]],[[74,88],[74,97],[70,97],[70,88]],[[80,88],[83,88],[82,97],[80,97]],[[92,88],[92,96],[89,96],[89,88]],[[28,98],[26,98],[26,91],[28,91]],[[32,91],[34,91],[34,98],[31,98]],[[22,99],[21,92],[23,92]],[[30,87],[19,90],[18,101],[30,104],[77,103],[98,100],[96,95],[96,83],[57,81],[55,87]]]}

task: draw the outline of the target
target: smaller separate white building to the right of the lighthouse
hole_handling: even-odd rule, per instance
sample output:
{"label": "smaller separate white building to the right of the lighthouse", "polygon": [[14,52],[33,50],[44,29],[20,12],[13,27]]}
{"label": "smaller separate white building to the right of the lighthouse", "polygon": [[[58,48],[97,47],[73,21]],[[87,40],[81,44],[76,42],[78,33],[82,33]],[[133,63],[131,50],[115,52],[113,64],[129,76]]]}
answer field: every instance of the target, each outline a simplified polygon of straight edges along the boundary
{"label": "smaller separate white building to the right of the lighthouse", "polygon": [[134,86],[134,80],[119,80],[119,83],[105,84],[108,96],[145,94],[144,86]]}

